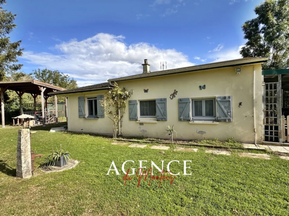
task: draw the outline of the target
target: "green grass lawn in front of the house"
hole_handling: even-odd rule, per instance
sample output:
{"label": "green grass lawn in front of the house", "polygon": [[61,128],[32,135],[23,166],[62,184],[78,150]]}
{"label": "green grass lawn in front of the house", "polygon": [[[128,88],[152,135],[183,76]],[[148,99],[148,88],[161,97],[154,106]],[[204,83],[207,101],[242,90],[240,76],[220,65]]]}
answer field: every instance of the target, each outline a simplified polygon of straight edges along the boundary
{"label": "green grass lawn in front of the house", "polygon": [[[81,162],[59,173],[36,169],[30,179],[16,178],[18,128],[0,129],[0,215],[289,215],[289,161],[273,154],[271,160],[262,160],[237,155],[245,150],[215,156],[205,148],[174,152],[175,146],[162,154],[111,145],[108,138],[49,133],[51,126],[32,128],[37,130],[31,144],[35,154],[47,156],[62,144]],[[43,160],[37,158],[35,167]],[[138,188],[136,178],[124,185],[121,166],[127,160],[135,161],[135,168],[139,160],[157,165],[164,160],[165,166],[178,160],[180,167],[172,163],[171,171],[181,174],[182,161],[190,160],[192,175],[177,176],[172,185],[163,180],[161,188],[159,181],[148,186],[143,180]],[[106,175],[112,161],[120,176]]]}

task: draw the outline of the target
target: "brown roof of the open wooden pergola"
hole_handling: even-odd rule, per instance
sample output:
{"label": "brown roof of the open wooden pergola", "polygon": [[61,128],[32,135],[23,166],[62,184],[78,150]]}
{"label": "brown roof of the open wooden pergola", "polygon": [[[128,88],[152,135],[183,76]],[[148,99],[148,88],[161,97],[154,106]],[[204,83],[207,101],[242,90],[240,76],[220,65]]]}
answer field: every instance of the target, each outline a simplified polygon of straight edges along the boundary
{"label": "brown roof of the open wooden pergola", "polygon": [[0,82],[0,89],[6,88],[6,90],[13,90],[13,91],[19,91],[19,92],[25,91],[25,93],[30,93],[30,94],[40,94],[41,87],[46,88],[46,90],[44,91],[45,95],[48,95],[49,92],[65,90],[61,87],[53,86],[47,83],[42,83],[37,80]]}

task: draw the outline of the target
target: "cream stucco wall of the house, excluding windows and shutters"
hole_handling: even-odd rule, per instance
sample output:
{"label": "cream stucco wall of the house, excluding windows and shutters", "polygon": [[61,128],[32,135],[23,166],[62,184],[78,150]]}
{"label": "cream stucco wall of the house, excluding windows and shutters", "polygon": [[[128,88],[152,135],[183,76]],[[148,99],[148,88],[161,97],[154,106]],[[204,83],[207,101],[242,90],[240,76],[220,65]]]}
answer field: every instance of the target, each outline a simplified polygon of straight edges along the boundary
{"label": "cream stucco wall of the house, excluding windows and shutters", "polygon": [[[206,89],[200,90],[199,86],[205,84]],[[119,85],[120,87],[124,86],[129,90],[134,90],[130,100],[139,101],[166,98],[167,121],[157,121],[157,123],[144,122],[144,126],[141,126],[141,128],[147,130],[145,133],[146,137],[168,139],[169,137],[165,136],[165,126],[174,125],[174,129],[178,132],[177,139],[201,139],[201,135],[197,134],[195,131],[195,127],[198,127],[198,130],[206,131],[206,139],[218,138],[219,140],[226,140],[226,138],[234,137],[235,141],[254,143],[255,104],[256,142],[262,143],[263,112],[261,64],[242,66],[241,74],[237,74],[235,72],[235,67],[230,67],[122,81],[119,82]],[[145,93],[144,89],[149,90],[147,93]],[[178,94],[171,100],[169,96],[174,90],[177,90]],[[104,92],[105,91],[95,91],[67,95],[69,130],[81,131],[83,128],[84,132],[112,134],[112,122],[107,117],[98,120],[83,119],[78,117],[79,96],[84,96],[86,99],[86,97],[101,95],[104,94]],[[255,95],[254,102],[253,92]],[[217,124],[190,124],[189,122],[179,121],[179,98],[215,98],[216,96],[232,96],[232,122],[218,122]],[[240,108],[238,107],[239,102],[242,102],[242,106]],[[86,107],[87,105],[85,100],[85,110],[87,110]],[[139,114],[140,109],[138,107],[138,115]],[[155,119],[139,118],[139,120],[153,121]],[[129,121],[128,102],[122,125],[122,133],[124,136],[143,135],[143,133],[139,130],[140,124],[136,121]]]}

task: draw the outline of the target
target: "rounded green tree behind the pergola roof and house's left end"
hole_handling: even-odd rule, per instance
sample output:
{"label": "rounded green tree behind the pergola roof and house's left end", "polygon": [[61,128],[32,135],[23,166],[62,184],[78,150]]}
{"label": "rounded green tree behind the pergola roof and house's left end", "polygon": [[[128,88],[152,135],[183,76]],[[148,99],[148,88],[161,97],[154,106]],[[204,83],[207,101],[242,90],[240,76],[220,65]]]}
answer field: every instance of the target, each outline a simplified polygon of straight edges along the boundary
{"label": "rounded green tree behind the pergola roof and house's left end", "polygon": [[68,75],[64,75],[59,71],[51,71],[47,68],[43,70],[34,70],[29,74],[33,79],[39,80],[43,83],[48,83],[54,86],[59,86],[64,89],[75,89],[77,83],[74,79],[70,79]]}

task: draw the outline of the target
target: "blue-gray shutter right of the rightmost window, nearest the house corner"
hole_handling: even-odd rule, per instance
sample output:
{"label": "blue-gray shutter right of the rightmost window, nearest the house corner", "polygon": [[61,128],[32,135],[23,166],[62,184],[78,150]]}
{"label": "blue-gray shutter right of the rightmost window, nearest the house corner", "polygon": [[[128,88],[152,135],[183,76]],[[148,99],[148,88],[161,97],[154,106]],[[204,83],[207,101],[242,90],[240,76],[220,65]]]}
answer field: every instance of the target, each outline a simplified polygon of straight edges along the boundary
{"label": "blue-gray shutter right of the rightmost window, nearest the house corner", "polygon": [[219,122],[232,121],[232,96],[217,97],[217,117]]}

